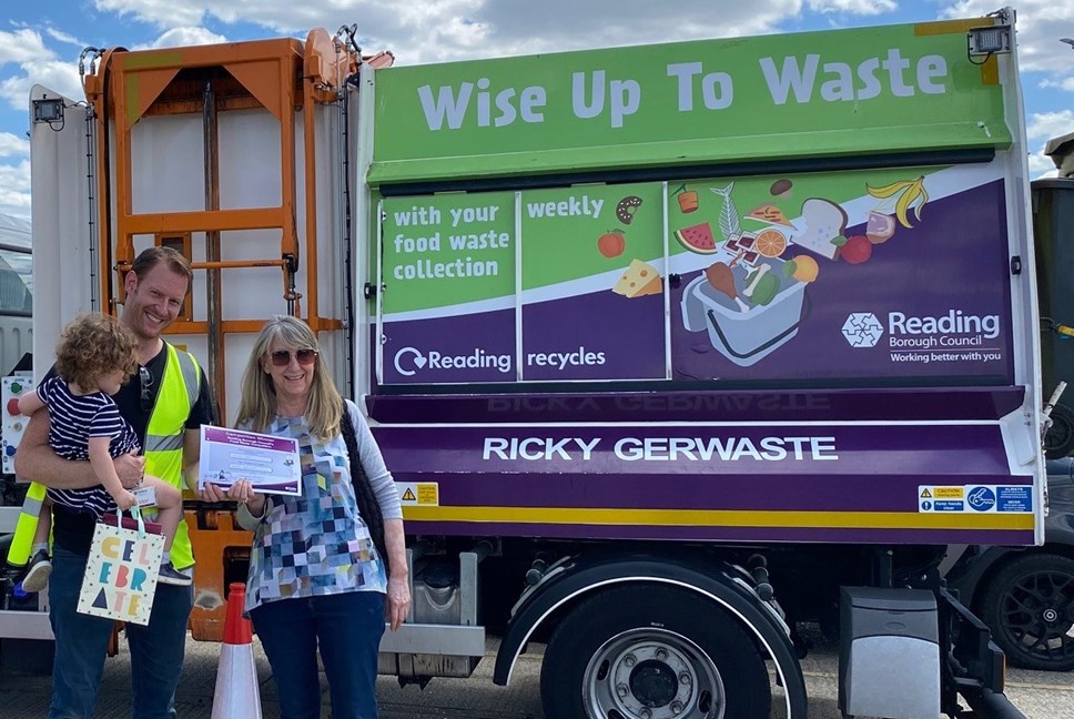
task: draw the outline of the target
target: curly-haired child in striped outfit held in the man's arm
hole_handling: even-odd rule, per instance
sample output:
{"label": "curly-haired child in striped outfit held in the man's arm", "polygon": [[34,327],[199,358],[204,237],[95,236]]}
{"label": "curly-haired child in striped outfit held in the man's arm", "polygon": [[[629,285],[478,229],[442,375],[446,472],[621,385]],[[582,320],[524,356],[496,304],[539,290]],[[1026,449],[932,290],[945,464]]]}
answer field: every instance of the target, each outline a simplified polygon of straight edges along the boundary
{"label": "curly-haired child in striped outfit held in the man's arm", "polygon": [[[115,317],[79,315],[60,333],[54,374],[50,373],[36,392],[19,397],[19,412],[28,416],[48,406],[49,446],[67,459],[88,458],[101,480],[99,486],[85,489],[49,489],[52,504],[91,512],[98,519],[116,507],[130,509],[138,504],[138,498],[120,483],[112,457],[140,452],[141,446],[111,397],[138,368],[136,343],[131,331]],[[141,487],[152,487],[156,494],[158,521],[164,535],[160,581],[190,585],[191,578],[176,570],[169,556],[182,519],[183,496],[158,477],[145,476]],[[48,560],[48,529],[45,506],[34,537],[31,566],[22,583],[27,591],[40,591],[51,573],[51,563],[48,567],[43,564]]]}

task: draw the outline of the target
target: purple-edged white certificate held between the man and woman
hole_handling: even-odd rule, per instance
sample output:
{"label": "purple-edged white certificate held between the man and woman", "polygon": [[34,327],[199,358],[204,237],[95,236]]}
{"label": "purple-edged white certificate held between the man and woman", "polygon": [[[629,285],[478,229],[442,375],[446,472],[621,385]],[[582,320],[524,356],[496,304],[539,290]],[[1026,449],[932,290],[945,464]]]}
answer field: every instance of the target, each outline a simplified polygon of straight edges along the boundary
{"label": "purple-edged white certificate held between the man and woman", "polygon": [[262,494],[302,494],[298,442],[202,425],[197,488],[213,484],[226,489],[240,479]]}

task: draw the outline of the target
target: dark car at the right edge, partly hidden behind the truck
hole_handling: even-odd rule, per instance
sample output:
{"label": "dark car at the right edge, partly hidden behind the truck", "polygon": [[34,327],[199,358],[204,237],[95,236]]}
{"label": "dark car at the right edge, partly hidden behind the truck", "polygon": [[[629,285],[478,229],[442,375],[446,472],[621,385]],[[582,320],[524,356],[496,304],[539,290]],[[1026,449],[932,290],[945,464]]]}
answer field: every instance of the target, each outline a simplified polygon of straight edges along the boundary
{"label": "dark car at the right edge, partly hidden behind the truck", "polygon": [[971,547],[948,575],[1007,661],[1074,669],[1074,457],[1051,459],[1044,545]]}

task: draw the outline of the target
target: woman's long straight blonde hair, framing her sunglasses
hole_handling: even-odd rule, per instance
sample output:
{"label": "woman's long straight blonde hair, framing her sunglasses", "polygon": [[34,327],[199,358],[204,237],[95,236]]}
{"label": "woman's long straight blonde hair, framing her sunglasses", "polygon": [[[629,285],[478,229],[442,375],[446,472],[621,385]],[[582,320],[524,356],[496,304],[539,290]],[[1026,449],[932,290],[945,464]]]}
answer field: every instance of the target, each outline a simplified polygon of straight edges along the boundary
{"label": "woman's long straight blonde hair, framing her sunglasses", "polygon": [[332,375],[321,354],[316,335],[310,326],[296,317],[275,315],[254,343],[242,376],[242,398],[239,402],[237,426],[249,426],[253,432],[264,432],[276,417],[276,389],[272,376],[262,367],[262,361],[272,362],[268,352],[274,340],[284,348],[313,350],[317,353],[314,362],[313,382],[306,399],[305,418],[310,433],[323,440],[340,434],[340,418],[343,415],[343,399],[332,382]]}

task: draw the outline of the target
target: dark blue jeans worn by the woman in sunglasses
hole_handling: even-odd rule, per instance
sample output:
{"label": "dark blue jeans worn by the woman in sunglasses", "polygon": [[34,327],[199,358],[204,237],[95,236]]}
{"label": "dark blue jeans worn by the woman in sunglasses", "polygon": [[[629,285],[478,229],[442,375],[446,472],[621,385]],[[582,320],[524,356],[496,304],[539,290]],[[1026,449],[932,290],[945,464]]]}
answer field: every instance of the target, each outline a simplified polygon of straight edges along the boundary
{"label": "dark blue jeans worn by the woman in sunglasses", "polygon": [[318,648],[333,719],[377,719],[383,594],[347,591],[278,599],[256,607],[250,618],[272,666],[281,719],[320,719]]}

